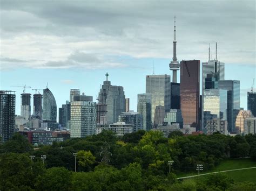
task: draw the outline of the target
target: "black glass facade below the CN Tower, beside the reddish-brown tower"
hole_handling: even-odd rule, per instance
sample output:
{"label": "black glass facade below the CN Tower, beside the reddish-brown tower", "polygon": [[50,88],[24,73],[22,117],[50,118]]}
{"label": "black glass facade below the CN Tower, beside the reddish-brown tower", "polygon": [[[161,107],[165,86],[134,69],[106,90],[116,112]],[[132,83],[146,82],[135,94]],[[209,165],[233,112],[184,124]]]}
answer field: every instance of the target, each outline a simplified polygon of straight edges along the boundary
{"label": "black glass facade below the CN Tower, beside the reddish-brown tower", "polygon": [[171,109],[180,109],[180,83],[171,82]]}

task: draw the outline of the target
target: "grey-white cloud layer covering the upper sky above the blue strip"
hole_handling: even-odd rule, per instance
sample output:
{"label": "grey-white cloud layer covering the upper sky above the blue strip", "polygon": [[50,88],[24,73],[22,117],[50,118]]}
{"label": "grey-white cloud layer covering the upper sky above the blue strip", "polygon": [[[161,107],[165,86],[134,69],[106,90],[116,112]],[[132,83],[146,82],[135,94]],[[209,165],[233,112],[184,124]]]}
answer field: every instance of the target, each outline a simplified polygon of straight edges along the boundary
{"label": "grey-white cloud layer covering the upper sky above the blue strip", "polygon": [[217,41],[221,61],[255,64],[255,1],[2,1],[1,56],[35,60],[10,69],[124,67],[116,56],[171,59],[174,15],[179,60],[206,61],[208,43],[214,55]]}

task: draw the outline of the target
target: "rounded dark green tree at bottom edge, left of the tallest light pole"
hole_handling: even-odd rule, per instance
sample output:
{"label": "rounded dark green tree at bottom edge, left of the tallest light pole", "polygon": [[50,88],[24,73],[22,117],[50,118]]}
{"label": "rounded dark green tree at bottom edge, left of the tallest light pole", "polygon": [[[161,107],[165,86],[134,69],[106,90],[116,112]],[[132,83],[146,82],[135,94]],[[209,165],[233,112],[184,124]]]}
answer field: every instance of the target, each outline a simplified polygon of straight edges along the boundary
{"label": "rounded dark green tree at bottom edge, left of the tallest light pole", "polygon": [[71,190],[72,173],[64,167],[48,168],[36,179],[36,190]]}

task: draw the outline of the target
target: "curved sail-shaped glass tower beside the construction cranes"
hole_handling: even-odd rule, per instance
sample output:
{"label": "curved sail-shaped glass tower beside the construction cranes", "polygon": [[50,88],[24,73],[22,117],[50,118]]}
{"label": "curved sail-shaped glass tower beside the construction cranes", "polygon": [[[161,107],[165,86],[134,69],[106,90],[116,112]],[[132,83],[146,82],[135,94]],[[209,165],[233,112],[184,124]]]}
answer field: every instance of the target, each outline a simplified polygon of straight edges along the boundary
{"label": "curved sail-shaped glass tower beside the construction cranes", "polygon": [[49,88],[44,89],[43,106],[43,120],[56,122],[57,105]]}

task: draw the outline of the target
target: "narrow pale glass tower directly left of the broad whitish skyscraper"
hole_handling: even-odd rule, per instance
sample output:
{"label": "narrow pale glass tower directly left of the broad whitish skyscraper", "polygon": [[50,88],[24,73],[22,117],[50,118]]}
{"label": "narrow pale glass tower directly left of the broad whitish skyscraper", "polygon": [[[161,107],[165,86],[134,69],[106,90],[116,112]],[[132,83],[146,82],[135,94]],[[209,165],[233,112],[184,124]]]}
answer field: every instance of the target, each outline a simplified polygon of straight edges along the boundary
{"label": "narrow pale glass tower directly left of the broad whitish skyscraper", "polygon": [[151,94],[138,94],[137,112],[143,115],[143,130],[151,129]]}

